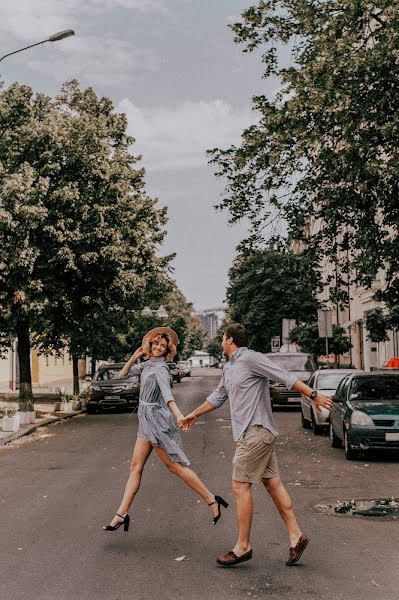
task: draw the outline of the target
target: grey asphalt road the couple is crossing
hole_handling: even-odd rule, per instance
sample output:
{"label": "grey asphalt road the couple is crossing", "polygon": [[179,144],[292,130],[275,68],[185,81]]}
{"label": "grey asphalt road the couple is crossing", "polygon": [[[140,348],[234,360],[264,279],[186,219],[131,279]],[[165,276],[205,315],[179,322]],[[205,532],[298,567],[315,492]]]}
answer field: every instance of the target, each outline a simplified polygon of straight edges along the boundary
{"label": "grey asphalt road the couple is crossing", "polygon": [[[218,382],[213,370],[175,385],[183,412]],[[399,523],[317,514],[326,499],[399,497],[398,463],[346,461],[327,437],[276,413],[280,471],[311,543],[288,568],[288,540],[263,486],[254,486],[254,558],[219,567],[235,542],[231,436],[224,405],[184,445],[212,491],[231,501],[216,527],[207,506],[153,453],[130,516],[108,533],[129,470],[137,415],[84,415],[0,450],[0,598],[7,600],[397,600]],[[184,560],[176,558],[185,556]]]}

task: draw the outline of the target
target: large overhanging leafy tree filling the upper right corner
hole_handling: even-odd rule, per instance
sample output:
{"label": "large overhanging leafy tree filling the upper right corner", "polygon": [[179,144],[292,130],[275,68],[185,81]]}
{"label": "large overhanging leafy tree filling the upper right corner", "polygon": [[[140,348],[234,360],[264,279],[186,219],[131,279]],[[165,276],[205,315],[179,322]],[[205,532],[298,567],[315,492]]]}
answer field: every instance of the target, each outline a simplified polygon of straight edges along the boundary
{"label": "large overhanging leafy tree filling the upper right corner", "polygon": [[[211,152],[227,178],[220,207],[232,222],[250,220],[252,242],[276,214],[287,219],[337,265],[342,304],[348,277],[369,287],[386,269],[377,299],[399,326],[397,3],[264,0],[232,30],[245,52],[261,49],[265,77],[282,89],[254,98],[259,122],[240,146]],[[281,45],[292,48],[290,64]],[[322,224],[311,236],[310,221]]]}

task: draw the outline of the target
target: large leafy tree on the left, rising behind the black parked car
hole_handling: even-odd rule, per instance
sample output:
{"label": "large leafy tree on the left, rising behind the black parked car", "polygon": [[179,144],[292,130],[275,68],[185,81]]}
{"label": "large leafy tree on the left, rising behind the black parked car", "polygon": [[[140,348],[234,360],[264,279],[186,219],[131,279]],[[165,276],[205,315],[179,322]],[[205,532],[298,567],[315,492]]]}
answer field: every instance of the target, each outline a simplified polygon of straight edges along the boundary
{"label": "large leafy tree on the left, rising behind the black parked car", "polygon": [[[81,91],[76,81],[63,86],[56,107],[63,116],[58,180],[70,195],[58,202],[56,223],[41,240],[53,248],[48,311],[54,327],[38,339],[45,348],[52,340],[66,345],[77,392],[78,359],[99,356],[107,340],[109,345],[126,331],[147,279],[162,272],[170,257],[156,254],[166,210],[145,194],[125,115],[91,88]],[[67,232],[61,244],[60,232]]]}

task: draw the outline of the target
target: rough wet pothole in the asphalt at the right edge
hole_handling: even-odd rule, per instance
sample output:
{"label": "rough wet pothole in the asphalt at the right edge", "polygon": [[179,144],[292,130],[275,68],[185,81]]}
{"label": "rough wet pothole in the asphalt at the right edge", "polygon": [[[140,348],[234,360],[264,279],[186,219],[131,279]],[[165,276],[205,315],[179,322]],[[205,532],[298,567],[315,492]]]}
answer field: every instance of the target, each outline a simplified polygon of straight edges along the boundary
{"label": "rough wet pothole in the asphalt at the right edge", "polygon": [[387,520],[399,518],[399,498],[335,500],[334,502],[321,502],[314,508],[316,512],[324,515],[382,517]]}

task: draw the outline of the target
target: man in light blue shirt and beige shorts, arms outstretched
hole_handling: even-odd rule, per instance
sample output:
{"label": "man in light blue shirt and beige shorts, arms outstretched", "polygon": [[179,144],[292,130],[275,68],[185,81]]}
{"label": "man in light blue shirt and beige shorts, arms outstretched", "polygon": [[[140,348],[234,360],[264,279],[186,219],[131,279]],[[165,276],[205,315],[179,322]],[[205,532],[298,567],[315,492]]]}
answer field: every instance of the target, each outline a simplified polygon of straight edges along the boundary
{"label": "man in light blue shirt and beige shorts, arms outstretched", "polygon": [[262,482],[279,511],[290,539],[286,565],[297,563],[309,537],[299,529],[291,498],[278,473],[274,442],[278,435],[273,420],[268,379],[282,382],[288,389],[312,397],[316,408],[331,409],[327,396],[311,390],[295,375],[275,365],[260,352],[247,348],[248,336],[240,323],[229,325],[222,348],[228,359],[217,389],[187,415],[183,427],[191,429],[196,419],[230,401],[233,437],[237,442],[233,459],[233,491],[237,503],[238,539],[233,550],[217,557],[221,565],[232,566],[252,558],[250,543],[253,514],[251,486]]}

